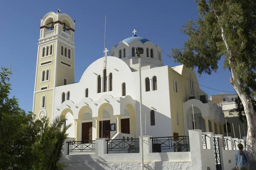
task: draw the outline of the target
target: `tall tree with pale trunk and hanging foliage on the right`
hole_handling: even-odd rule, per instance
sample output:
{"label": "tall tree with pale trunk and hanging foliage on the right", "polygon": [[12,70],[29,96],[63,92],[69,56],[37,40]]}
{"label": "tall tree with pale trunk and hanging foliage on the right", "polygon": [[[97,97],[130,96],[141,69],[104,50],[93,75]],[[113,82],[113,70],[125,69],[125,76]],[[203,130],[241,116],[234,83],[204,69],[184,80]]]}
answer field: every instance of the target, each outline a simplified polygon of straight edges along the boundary
{"label": "tall tree with pale trunk and hanging foliage on the right", "polygon": [[256,112],[251,99],[256,92],[256,1],[195,0],[197,20],[188,20],[181,31],[188,35],[183,48],[172,48],[169,57],[198,73],[217,71],[224,57],[230,83],[244,106],[248,123],[246,150],[256,160]]}

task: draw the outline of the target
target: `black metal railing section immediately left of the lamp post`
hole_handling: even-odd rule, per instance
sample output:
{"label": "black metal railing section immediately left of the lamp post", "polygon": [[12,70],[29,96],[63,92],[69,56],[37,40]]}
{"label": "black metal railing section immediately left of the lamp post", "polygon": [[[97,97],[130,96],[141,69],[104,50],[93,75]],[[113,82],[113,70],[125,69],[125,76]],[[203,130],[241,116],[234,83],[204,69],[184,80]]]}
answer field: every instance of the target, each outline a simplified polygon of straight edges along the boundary
{"label": "black metal railing section immediately left of the lamp post", "polygon": [[128,153],[140,153],[139,138],[133,139],[106,139],[108,142],[107,153],[109,151],[128,151]]}

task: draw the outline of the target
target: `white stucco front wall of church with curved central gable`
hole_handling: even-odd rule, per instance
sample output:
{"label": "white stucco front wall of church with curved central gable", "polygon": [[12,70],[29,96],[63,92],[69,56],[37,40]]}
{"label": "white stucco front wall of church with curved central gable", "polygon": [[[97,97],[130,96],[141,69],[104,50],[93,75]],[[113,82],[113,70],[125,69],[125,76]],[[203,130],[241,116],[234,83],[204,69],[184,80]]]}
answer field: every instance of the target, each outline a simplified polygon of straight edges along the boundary
{"label": "white stucco front wall of church with curved central gable", "polygon": [[[113,74],[113,91],[107,91],[102,93],[97,93],[97,75],[103,76],[103,62],[104,58],[100,58],[93,62],[84,72],[81,80],[78,83],[60,86],[55,88],[55,108],[54,116],[60,115],[61,112],[70,106],[70,109],[73,111],[74,119],[78,119],[79,110],[81,107],[89,104],[91,112],[84,111],[84,113],[91,113],[92,117],[98,116],[99,107],[106,103],[105,99],[108,98],[110,105],[113,107],[113,113],[111,115],[124,114],[125,105],[123,102],[116,102],[117,98],[124,98],[122,96],[122,83],[126,84],[126,96],[131,96],[131,100],[134,100],[134,103],[131,103],[134,107],[136,113],[136,130],[137,136],[140,136],[140,93],[139,93],[139,72],[132,72],[128,65],[123,62],[121,59],[116,57],[107,57],[107,75],[109,73]],[[96,75],[97,74],[97,75]],[[151,82],[151,91],[145,91],[145,78],[148,77],[157,77],[157,90],[152,91],[152,82]],[[142,99],[143,99],[143,133],[145,135],[151,136],[173,136],[172,135],[172,126],[171,126],[171,110],[169,102],[169,83],[168,83],[168,66],[162,66],[158,68],[151,68],[142,71]],[[152,80],[150,80],[152,81]],[[89,89],[88,98],[84,97],[85,89]],[[61,94],[63,92],[67,93],[70,91],[70,101],[65,101],[61,104]],[[113,101],[111,101],[111,99]],[[120,100],[119,99],[119,100]],[[164,102],[163,102],[164,101]],[[85,104],[85,103],[87,104]],[[150,112],[151,110],[155,111],[155,125],[151,126]],[[146,114],[146,116],[145,116]],[[121,119],[128,118],[123,116]],[[112,116],[111,118],[103,118],[103,120],[110,119],[111,123],[116,123],[116,117]],[[94,119],[84,120],[81,122],[93,122]],[[146,125],[145,125],[146,124]],[[163,128],[165,125],[165,128]],[[146,128],[146,130],[145,130]],[[80,125],[81,130],[81,125]],[[111,131],[111,136],[116,131]],[[80,131],[81,133],[81,131]],[[93,139],[95,139],[94,134],[96,133],[95,128],[93,128]],[[70,134],[72,136],[72,134]],[[73,137],[73,136],[72,136]]]}

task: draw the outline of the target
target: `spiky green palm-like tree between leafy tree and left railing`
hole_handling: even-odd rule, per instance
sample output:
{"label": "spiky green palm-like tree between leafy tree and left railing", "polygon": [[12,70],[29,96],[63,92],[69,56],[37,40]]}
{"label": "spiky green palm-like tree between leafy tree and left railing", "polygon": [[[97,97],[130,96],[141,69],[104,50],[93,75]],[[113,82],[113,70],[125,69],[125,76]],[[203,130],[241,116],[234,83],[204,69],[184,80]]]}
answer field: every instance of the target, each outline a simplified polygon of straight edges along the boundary
{"label": "spiky green palm-like tree between leafy tree and left railing", "polygon": [[62,170],[64,164],[59,163],[62,158],[64,141],[67,139],[67,129],[71,124],[65,125],[65,116],[56,116],[49,125],[49,119],[43,119],[41,135],[33,145],[33,169],[36,170]]}

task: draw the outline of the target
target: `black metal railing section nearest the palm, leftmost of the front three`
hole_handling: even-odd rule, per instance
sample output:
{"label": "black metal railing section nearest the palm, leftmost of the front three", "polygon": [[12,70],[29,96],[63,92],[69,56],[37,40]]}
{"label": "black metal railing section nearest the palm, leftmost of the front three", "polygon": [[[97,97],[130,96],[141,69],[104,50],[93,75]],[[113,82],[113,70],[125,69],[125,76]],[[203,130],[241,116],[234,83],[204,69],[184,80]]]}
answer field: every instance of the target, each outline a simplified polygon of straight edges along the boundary
{"label": "black metal railing section nearest the palm, leftmost of the front three", "polygon": [[79,152],[95,152],[96,141],[67,142],[67,154]]}

